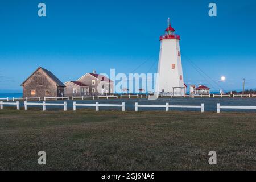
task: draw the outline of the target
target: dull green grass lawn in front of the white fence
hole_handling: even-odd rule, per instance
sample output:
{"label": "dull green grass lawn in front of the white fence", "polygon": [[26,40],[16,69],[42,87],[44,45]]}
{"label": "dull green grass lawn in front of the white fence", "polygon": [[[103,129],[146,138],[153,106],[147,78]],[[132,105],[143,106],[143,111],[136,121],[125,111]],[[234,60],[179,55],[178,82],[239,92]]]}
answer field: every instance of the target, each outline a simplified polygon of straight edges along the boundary
{"label": "dull green grass lawn in front of the white fence", "polygon": [[5,107],[0,145],[1,170],[256,170],[256,114]]}

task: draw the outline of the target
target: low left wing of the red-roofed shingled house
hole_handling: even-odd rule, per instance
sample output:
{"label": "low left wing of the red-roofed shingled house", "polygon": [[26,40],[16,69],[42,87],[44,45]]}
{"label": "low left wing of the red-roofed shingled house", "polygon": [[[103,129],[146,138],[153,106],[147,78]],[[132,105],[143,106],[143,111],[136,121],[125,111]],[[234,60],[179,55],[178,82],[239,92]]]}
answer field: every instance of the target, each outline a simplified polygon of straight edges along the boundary
{"label": "low left wing of the red-roofed shingled house", "polygon": [[89,86],[79,81],[65,82],[65,96],[89,96]]}

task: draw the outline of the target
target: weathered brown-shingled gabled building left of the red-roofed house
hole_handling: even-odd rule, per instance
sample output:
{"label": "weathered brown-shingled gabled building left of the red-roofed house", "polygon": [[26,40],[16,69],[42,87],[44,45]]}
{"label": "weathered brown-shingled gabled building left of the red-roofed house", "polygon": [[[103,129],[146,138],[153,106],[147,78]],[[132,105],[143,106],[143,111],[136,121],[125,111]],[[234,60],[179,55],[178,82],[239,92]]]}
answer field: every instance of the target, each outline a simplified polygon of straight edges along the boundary
{"label": "weathered brown-shingled gabled building left of the red-roofed house", "polygon": [[20,86],[23,97],[61,97],[65,85],[52,72],[39,67]]}

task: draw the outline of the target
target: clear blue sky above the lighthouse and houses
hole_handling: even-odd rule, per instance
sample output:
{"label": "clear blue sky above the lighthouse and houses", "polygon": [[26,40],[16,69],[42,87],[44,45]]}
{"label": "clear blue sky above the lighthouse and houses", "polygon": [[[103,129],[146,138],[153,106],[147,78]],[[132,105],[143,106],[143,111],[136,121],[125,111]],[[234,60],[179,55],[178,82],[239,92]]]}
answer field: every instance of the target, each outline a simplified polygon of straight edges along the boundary
{"label": "clear blue sky above the lighthouse and houses", "polygon": [[[47,17],[38,16],[40,2]],[[208,16],[210,2],[217,4],[216,18]],[[255,9],[254,0],[1,1],[0,92],[21,92],[19,85],[39,66],[63,82],[93,69],[155,73],[168,17],[181,36],[185,82],[228,91],[240,90],[245,78],[254,89]],[[221,76],[225,82],[218,82]]]}

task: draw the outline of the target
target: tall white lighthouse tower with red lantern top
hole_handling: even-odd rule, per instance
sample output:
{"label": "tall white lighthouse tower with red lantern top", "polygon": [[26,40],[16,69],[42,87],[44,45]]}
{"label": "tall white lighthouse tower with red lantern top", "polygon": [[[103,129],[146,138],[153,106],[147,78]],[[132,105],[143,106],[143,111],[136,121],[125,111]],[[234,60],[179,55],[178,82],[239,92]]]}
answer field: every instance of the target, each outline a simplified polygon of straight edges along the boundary
{"label": "tall white lighthouse tower with red lantern top", "polygon": [[166,34],[160,36],[158,63],[158,92],[174,96],[184,96],[182,64],[180,57],[180,36],[176,35],[168,18]]}

